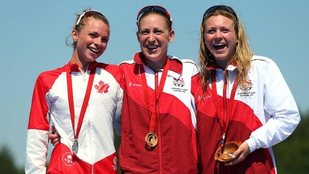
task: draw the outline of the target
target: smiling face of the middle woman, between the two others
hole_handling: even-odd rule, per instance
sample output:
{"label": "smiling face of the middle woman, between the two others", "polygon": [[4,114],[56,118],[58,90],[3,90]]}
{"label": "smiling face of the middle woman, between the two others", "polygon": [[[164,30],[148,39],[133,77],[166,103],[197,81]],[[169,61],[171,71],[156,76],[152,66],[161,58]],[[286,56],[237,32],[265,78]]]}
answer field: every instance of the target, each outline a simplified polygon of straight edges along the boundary
{"label": "smiling face of the middle woman, between the two others", "polygon": [[[174,31],[169,30],[163,16],[150,14],[139,22],[137,38],[149,66],[162,68],[167,58],[168,42],[174,39]],[[156,69],[155,67],[152,67]]]}

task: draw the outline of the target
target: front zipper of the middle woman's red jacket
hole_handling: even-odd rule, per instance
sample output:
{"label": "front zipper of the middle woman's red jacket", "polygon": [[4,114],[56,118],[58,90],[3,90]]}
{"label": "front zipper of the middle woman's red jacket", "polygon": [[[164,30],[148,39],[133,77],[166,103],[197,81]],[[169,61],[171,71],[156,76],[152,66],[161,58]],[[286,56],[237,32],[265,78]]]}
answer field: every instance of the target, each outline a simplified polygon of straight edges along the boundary
{"label": "front zipper of the middle woman's red jacket", "polygon": [[[156,100],[156,90],[158,87],[158,73],[154,73],[154,100]],[[156,101],[154,101],[156,102]],[[157,127],[158,127],[158,151],[159,151],[159,166],[160,166],[160,174],[163,174],[163,164],[162,164],[162,139],[161,139],[161,122],[160,122],[160,117],[159,117],[159,105],[155,105],[155,114],[156,114],[156,122],[157,122]]]}

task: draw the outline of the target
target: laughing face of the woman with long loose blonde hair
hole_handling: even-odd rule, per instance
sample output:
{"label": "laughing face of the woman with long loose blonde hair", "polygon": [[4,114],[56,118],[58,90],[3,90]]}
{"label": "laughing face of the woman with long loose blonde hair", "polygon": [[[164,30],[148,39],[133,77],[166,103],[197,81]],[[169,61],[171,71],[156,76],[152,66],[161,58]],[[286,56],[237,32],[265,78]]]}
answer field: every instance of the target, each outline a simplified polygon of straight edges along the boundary
{"label": "laughing face of the woman with long loose blonde hair", "polygon": [[206,19],[204,42],[220,67],[225,67],[235,53],[237,37],[233,20],[216,15]]}

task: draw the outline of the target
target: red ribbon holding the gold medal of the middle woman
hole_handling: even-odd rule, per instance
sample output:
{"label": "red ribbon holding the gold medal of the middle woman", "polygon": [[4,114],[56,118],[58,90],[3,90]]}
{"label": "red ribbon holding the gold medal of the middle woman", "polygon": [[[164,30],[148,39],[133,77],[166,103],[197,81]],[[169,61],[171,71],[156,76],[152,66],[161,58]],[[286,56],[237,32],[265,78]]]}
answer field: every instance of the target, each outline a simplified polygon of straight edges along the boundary
{"label": "red ribbon holding the gold medal of the middle woman", "polygon": [[157,105],[159,98],[161,97],[161,94],[162,94],[162,91],[163,91],[164,83],[165,83],[166,76],[167,76],[167,71],[168,71],[168,68],[169,68],[169,63],[170,63],[170,60],[169,60],[169,58],[167,58],[166,64],[163,68],[162,76],[161,76],[161,79],[160,79],[159,88],[158,88],[156,96],[155,96],[154,110],[151,109],[150,96],[149,96],[149,90],[148,90],[144,65],[140,65],[145,102],[146,102],[146,106],[147,106],[149,115],[151,116],[151,118],[150,118],[150,128],[149,128],[150,131],[154,131],[155,118],[156,118],[155,108],[156,108],[156,105]]}

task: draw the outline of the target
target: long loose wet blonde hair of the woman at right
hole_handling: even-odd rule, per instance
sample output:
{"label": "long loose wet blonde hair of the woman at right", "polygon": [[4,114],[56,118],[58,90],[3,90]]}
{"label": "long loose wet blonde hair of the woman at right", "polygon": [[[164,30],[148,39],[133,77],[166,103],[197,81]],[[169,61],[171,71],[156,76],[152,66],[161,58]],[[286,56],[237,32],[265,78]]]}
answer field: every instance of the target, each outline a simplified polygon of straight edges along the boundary
{"label": "long loose wet blonde hair of the woman at right", "polygon": [[[207,66],[209,66],[210,62],[215,62],[213,55],[210,53],[208,48],[205,45],[204,42],[204,33],[205,33],[205,25],[206,21],[211,16],[218,16],[222,15],[229,19],[231,19],[234,22],[234,30],[236,34],[236,47],[235,52],[231,60],[227,63],[229,65],[231,62],[236,62],[237,64],[237,82],[240,86],[247,89],[247,80],[248,80],[248,71],[251,67],[251,58],[253,56],[253,53],[251,51],[251,48],[249,46],[249,42],[245,33],[245,29],[239,19],[237,19],[234,15],[231,13],[217,9],[211,13],[209,13],[206,18],[202,21],[201,24],[201,33],[200,33],[200,51],[199,51],[199,63],[201,66],[201,83],[203,87],[204,93],[206,92],[206,88],[209,83],[209,78],[211,77],[210,70],[207,69]],[[224,75],[227,79],[228,74],[227,71],[224,72]]]}

